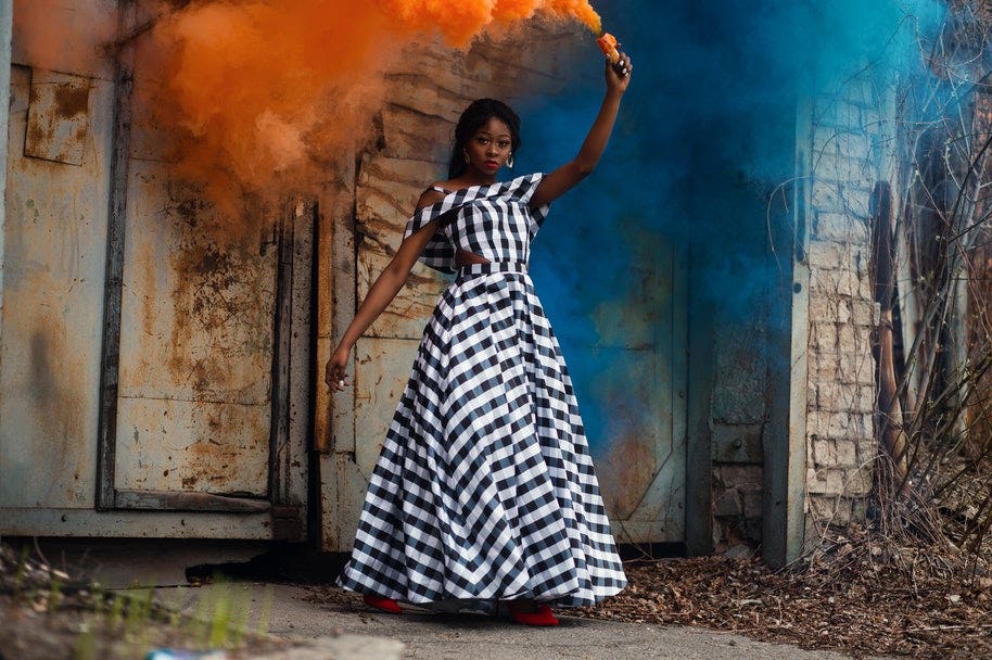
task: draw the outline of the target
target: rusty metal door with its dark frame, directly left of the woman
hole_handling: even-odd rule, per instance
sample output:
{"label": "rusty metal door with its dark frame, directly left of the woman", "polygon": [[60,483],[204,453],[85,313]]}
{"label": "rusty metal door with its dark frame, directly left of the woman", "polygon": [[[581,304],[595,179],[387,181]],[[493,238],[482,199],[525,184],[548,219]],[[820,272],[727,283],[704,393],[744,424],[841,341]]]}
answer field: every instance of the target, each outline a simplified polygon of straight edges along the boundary
{"label": "rusty metal door with its dark frame, directly left of the woman", "polygon": [[290,408],[306,409],[309,392],[300,270],[310,268],[313,207],[228,227],[167,164],[133,160],[126,208],[123,244],[109,246],[120,276],[107,284],[119,306],[105,318],[116,383],[105,371],[100,505],[270,511],[289,521],[274,534],[297,536],[307,429]]}

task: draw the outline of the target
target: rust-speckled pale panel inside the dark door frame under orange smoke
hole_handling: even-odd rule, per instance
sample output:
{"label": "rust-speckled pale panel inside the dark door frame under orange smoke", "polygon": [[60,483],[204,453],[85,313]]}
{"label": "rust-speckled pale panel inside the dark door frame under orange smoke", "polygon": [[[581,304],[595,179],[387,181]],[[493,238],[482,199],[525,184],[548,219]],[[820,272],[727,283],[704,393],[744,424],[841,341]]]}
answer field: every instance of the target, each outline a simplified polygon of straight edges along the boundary
{"label": "rust-speckled pale panel inside the dark door frame under orange smoke", "polygon": [[265,497],[278,251],[166,165],[130,168],[114,486]]}

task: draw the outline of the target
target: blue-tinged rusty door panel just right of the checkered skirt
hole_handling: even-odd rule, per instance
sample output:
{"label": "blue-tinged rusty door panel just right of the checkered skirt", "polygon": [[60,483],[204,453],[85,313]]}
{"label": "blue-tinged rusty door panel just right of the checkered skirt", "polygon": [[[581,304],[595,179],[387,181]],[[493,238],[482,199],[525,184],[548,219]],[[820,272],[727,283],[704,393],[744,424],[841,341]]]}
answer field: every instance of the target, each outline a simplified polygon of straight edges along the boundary
{"label": "blue-tinged rusty door panel just right of the checkered skirt", "polygon": [[[557,236],[568,230],[548,223],[538,240],[574,245]],[[685,537],[685,257],[658,232],[627,231],[637,241],[615,283],[605,284],[606,274],[559,279],[544,295],[552,274],[542,268],[548,262],[540,253],[534,278],[575,382],[614,536],[678,543]],[[562,258],[559,252],[551,264]],[[565,295],[581,304],[562,305]],[[585,330],[589,321],[593,329]]]}

